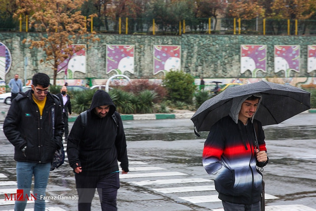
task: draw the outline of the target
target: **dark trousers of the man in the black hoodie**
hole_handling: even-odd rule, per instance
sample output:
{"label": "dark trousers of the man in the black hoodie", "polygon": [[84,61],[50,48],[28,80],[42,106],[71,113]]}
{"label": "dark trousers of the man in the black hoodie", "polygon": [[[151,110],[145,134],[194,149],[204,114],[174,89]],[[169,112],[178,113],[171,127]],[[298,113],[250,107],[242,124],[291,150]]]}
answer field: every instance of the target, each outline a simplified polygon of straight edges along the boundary
{"label": "dark trousers of the man in the black hoodie", "polygon": [[97,188],[102,211],[117,211],[116,195],[119,189],[119,172],[88,176],[76,174],[76,188],[79,196],[78,211],[90,211],[91,202]]}

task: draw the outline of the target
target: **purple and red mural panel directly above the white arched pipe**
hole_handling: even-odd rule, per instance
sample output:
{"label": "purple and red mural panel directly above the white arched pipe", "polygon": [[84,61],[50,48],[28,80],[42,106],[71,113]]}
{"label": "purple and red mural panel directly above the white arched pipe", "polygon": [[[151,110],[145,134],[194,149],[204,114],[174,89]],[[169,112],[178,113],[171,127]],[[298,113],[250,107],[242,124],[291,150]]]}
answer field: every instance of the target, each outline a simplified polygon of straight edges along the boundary
{"label": "purple and red mural panel directly above the white arched pipe", "polygon": [[134,74],[135,45],[106,45],[106,73]]}

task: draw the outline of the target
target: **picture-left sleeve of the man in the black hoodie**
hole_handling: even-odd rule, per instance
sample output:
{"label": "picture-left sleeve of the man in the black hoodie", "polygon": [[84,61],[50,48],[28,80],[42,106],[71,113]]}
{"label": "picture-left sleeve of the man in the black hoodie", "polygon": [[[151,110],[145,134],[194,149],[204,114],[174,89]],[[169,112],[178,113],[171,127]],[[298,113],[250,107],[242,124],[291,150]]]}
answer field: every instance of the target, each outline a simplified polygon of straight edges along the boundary
{"label": "picture-left sleeve of the man in the black hoodie", "polygon": [[[71,131],[67,140],[67,157],[70,166],[75,169],[81,166],[79,160],[79,142],[83,137],[84,128],[81,122],[81,116],[79,115],[71,128]],[[78,165],[76,165],[78,163]]]}

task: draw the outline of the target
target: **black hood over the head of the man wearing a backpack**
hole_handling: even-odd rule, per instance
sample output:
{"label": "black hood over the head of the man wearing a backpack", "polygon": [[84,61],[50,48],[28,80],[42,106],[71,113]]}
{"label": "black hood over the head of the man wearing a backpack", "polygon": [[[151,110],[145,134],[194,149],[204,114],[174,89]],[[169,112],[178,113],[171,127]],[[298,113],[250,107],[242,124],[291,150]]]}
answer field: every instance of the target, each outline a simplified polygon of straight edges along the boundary
{"label": "black hood over the head of the man wearing a backpack", "polygon": [[[105,106],[105,105],[110,106],[108,116],[112,116],[116,110],[116,107],[114,106],[114,103],[110,95],[104,90],[97,90],[92,97],[90,111],[93,111],[94,108],[96,107]],[[91,113],[94,113],[94,112],[91,112]]]}

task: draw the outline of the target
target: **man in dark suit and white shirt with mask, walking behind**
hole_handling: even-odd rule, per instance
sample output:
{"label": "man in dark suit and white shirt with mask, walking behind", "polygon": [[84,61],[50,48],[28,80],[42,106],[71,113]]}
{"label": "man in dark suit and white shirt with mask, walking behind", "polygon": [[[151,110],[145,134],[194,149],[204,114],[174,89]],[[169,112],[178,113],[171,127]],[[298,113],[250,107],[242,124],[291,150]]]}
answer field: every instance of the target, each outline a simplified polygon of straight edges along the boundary
{"label": "man in dark suit and white shirt with mask, walking behind", "polygon": [[70,102],[70,96],[67,95],[67,86],[63,86],[60,89],[60,93],[57,94],[60,102],[61,107],[63,109],[63,120],[64,120],[64,134],[65,134],[65,140],[68,139],[69,129],[68,129],[68,113],[71,115],[71,102]]}

